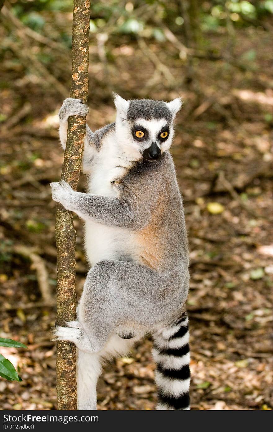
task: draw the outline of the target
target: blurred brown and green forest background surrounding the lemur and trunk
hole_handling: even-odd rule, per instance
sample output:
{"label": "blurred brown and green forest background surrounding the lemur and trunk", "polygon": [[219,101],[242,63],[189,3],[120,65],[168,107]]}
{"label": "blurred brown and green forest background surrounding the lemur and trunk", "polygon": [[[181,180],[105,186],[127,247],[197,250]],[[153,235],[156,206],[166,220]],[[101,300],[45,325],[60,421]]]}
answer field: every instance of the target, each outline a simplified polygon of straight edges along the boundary
{"label": "blurred brown and green forest background surrounding the lemur and trunk", "polygon": [[[22,382],[0,381],[0,405],[56,409],[48,184],[63,162],[58,109],[69,96],[72,0],[0,6],[0,337],[28,346],[1,348]],[[270,410],[273,0],[94,0],[90,13],[93,130],[114,121],[113,91],[183,99],[172,155],[191,251],[192,408]],[[76,217],[75,227],[80,295],[88,264]],[[151,344],[107,366],[99,409],[154,409]]]}

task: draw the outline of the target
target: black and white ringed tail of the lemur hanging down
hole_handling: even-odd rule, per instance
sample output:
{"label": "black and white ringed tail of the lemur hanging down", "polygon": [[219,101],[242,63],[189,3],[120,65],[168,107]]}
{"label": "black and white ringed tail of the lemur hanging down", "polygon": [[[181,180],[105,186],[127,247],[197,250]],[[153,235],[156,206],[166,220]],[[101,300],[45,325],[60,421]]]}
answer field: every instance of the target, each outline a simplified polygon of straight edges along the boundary
{"label": "black and white ringed tail of the lemur hanging down", "polygon": [[154,333],[153,358],[157,364],[157,410],[190,410],[190,348],[188,316]]}

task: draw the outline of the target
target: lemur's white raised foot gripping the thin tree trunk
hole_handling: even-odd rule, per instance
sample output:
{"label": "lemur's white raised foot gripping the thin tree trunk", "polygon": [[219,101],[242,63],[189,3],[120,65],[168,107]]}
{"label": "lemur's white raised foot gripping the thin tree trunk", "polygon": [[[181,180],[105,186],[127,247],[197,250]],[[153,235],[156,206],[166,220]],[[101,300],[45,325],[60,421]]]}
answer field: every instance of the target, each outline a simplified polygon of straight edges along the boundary
{"label": "lemur's white raised foot gripping the thin tree trunk", "polygon": [[94,344],[91,343],[81,324],[78,321],[67,321],[67,327],[56,326],[53,330],[55,340],[69,340],[75,343],[75,346],[85,353],[96,353]]}

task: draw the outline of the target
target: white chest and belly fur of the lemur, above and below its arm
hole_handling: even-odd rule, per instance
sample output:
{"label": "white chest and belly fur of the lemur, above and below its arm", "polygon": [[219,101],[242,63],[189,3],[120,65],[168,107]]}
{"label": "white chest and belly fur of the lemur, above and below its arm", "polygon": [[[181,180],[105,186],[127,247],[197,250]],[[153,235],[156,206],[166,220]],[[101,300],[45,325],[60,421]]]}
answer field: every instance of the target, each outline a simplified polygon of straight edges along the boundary
{"label": "white chest and belly fur of the lemur, above and below its arm", "polygon": [[[105,197],[117,197],[117,191],[111,182],[126,173],[129,163],[119,155],[114,137],[109,134],[100,152],[94,156],[88,192]],[[126,260],[132,256],[132,233],[127,229],[87,221],[85,249],[92,266],[101,260]]]}

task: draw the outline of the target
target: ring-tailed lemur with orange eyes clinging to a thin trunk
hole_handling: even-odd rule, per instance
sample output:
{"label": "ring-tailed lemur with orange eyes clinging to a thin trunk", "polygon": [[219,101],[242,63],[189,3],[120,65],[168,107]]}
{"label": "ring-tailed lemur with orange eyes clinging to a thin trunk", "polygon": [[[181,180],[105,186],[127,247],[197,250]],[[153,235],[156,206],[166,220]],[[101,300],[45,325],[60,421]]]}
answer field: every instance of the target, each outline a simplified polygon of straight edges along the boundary
{"label": "ring-tailed lemur with orange eyes clinging to a thin trunk", "polygon": [[[182,198],[168,151],[180,99],[126,101],[115,95],[116,122],[86,126],[83,171],[88,194],[51,183],[53,200],[85,220],[91,264],[77,321],[56,339],[78,348],[78,409],[96,409],[103,360],[124,355],[147,333],[154,338],[158,410],[189,410],[188,241]],[[88,107],[66,99],[60,140],[70,115]]]}

